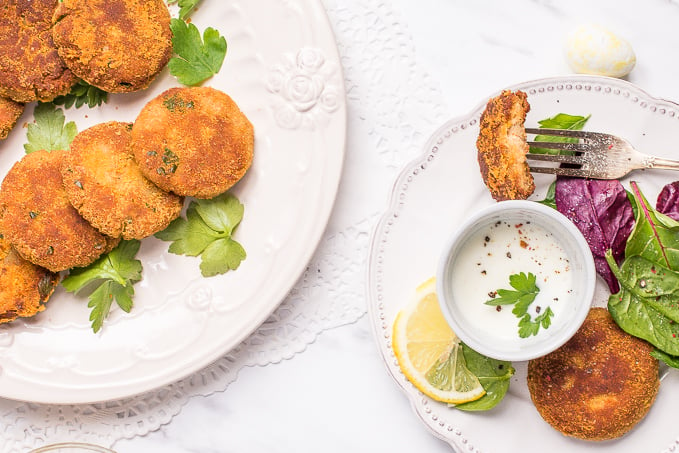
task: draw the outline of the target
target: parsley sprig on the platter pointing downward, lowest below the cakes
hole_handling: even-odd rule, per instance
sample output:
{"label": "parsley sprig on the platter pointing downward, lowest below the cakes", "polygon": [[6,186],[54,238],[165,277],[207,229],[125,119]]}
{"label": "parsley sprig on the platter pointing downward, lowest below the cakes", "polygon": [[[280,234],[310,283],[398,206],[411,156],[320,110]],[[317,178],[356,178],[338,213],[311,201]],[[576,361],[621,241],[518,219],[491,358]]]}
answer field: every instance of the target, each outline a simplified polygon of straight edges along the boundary
{"label": "parsley sprig on the platter pointing downward, lowest below the cakes", "polygon": [[67,291],[78,293],[85,287],[95,289],[90,293],[88,307],[92,309],[92,330],[98,332],[115,299],[118,306],[129,313],[134,296],[133,285],[141,280],[141,261],[134,259],[141,243],[138,240],[121,241],[108,254],[83,268],[71,269],[61,282]]}

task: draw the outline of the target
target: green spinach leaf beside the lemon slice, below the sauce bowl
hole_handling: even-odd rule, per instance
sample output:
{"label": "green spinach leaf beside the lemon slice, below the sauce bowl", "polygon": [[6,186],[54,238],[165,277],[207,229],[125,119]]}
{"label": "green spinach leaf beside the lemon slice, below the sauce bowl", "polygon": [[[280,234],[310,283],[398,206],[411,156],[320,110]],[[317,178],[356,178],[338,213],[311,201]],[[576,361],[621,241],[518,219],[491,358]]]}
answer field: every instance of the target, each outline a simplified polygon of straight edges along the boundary
{"label": "green spinach leaf beside the lemon slice, below the sauce bowl", "polygon": [[479,378],[486,394],[478,400],[457,404],[455,408],[470,412],[494,408],[509,390],[510,378],[514,375],[512,364],[479,354],[464,343],[462,343],[462,352],[467,369]]}

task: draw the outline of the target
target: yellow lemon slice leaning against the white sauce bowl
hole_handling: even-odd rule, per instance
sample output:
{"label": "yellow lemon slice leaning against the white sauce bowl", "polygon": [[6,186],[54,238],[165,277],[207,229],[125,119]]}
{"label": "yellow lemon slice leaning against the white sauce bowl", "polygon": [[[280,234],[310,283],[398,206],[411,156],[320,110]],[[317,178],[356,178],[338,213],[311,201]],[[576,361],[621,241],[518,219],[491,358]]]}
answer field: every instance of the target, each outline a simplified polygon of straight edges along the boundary
{"label": "yellow lemon slice leaning against the white sauce bowl", "polygon": [[441,313],[435,278],[418,286],[413,301],[396,315],[392,346],[403,374],[430,398],[461,404],[486,393]]}

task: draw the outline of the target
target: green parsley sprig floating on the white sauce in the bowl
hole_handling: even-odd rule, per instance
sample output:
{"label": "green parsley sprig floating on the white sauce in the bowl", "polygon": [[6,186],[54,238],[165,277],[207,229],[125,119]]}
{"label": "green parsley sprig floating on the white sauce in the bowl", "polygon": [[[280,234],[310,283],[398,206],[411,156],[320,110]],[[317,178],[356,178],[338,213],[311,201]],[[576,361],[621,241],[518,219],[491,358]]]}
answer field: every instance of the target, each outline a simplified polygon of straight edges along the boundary
{"label": "green parsley sprig floating on the white sauce in the bowl", "polygon": [[[496,291],[497,297],[486,301],[486,305],[514,305],[512,313],[519,318],[519,336],[521,338],[537,335],[540,327],[546,329],[552,324],[554,312],[551,307],[547,307],[535,319],[528,312],[528,309],[540,292],[536,280],[537,278],[531,272],[528,274],[524,272],[512,274],[509,276],[509,285],[514,289],[498,289]],[[536,308],[536,311],[538,309],[539,307]]]}

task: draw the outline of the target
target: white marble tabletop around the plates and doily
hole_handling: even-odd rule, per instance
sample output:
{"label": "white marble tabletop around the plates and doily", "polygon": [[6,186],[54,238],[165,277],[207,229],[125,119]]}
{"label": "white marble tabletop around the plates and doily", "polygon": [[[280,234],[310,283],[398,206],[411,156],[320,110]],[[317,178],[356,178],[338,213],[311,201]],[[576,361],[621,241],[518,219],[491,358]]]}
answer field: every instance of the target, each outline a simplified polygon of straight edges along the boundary
{"label": "white marble tabletop around the plates and doily", "polygon": [[[570,73],[563,40],[583,22],[604,24],[630,41],[638,62],[629,81],[679,101],[675,1],[391,4],[412,35],[420,64],[439,84],[451,117],[504,86]],[[432,124],[432,131],[437,126]],[[291,360],[242,370],[225,392],[193,398],[168,425],[113,448],[119,453],[450,451],[419,422],[387,375],[365,317],[322,333]]]}

